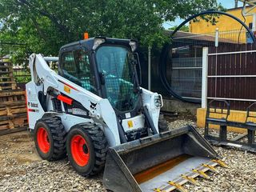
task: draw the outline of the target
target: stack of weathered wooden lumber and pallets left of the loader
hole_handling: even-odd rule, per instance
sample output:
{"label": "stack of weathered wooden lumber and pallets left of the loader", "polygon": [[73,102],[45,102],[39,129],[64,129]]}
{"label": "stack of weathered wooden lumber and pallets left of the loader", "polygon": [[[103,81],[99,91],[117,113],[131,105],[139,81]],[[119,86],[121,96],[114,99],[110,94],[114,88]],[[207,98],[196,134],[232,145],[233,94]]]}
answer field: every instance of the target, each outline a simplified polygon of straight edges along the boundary
{"label": "stack of weathered wooden lumber and pallets left of the loader", "polygon": [[18,88],[13,65],[0,62],[0,135],[26,130],[25,90]]}

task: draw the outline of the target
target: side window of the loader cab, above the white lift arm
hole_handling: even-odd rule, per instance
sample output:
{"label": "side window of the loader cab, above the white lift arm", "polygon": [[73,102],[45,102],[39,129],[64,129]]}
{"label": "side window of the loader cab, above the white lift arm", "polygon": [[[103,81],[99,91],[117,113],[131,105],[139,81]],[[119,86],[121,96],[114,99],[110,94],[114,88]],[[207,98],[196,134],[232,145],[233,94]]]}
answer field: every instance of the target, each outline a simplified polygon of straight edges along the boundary
{"label": "side window of the loader cab, above the white lift arm", "polygon": [[84,50],[74,50],[62,54],[62,72],[64,78],[97,94],[89,55]]}

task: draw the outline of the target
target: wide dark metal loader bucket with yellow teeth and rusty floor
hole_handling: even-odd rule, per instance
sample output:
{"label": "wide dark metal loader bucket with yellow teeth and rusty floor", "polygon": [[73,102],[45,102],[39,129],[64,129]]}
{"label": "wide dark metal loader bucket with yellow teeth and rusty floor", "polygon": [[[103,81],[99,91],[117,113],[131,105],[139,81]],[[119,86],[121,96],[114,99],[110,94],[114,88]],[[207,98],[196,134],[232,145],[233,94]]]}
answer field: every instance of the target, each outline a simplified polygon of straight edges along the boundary
{"label": "wide dark metal loader bucket with yellow teeth and rusty floor", "polygon": [[[218,154],[193,126],[110,147],[103,183],[113,191],[186,191],[186,182],[209,177]],[[224,164],[222,164],[224,166]]]}

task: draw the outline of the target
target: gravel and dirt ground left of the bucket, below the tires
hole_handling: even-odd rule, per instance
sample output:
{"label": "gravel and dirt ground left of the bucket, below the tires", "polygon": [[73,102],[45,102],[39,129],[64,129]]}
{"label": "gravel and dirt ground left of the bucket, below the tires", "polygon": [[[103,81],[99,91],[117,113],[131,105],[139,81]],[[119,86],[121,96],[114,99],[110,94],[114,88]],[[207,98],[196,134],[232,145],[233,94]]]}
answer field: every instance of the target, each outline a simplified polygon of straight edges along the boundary
{"label": "gravel and dirt ground left of the bucket, below the tires", "polygon": [[0,191],[106,191],[102,174],[78,175],[67,158],[47,162],[39,158],[28,131],[0,136]]}

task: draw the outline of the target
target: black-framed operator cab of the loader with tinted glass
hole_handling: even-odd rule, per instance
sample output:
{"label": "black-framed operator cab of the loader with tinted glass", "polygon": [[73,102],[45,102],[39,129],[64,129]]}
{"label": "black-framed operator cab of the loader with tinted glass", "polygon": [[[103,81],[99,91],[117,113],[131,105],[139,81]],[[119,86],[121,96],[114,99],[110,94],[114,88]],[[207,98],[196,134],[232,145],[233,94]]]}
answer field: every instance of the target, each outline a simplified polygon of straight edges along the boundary
{"label": "black-framed operator cab of the loader with tinted glass", "polygon": [[134,117],[142,108],[137,44],[116,38],[89,38],[67,44],[60,50],[58,73],[107,98],[122,119]]}

